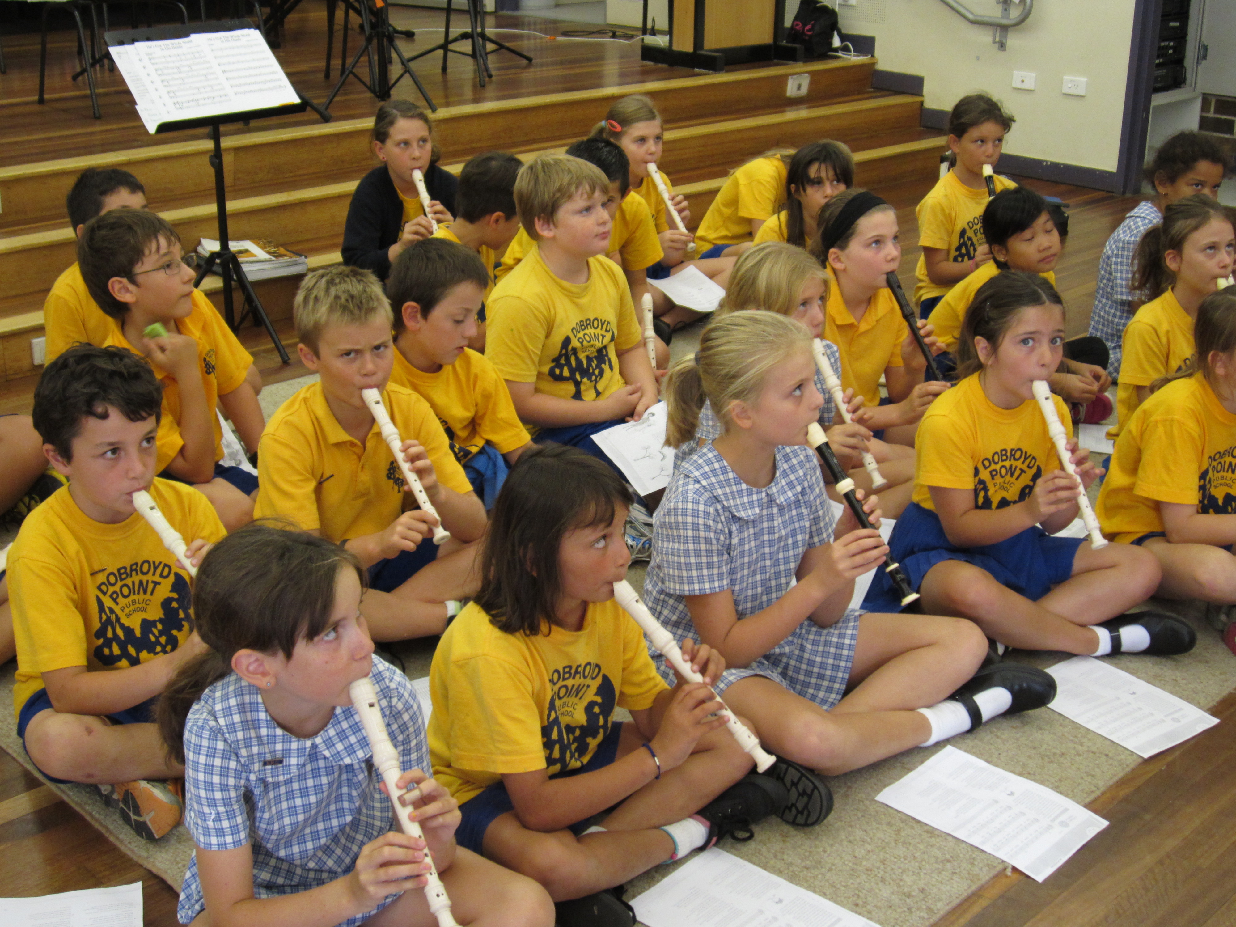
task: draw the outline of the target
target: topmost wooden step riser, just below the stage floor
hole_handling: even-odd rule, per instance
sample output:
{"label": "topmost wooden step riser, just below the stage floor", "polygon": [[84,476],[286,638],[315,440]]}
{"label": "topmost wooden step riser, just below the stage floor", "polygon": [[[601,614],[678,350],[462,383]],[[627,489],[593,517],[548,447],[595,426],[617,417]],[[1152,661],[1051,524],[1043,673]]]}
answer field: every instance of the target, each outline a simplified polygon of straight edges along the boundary
{"label": "topmost wooden step riser, just below the stage floor", "polygon": [[[829,61],[451,106],[434,115],[435,131],[452,161],[466,161],[496,147],[527,151],[583,137],[609,103],[627,94],[648,94],[666,125],[675,126],[714,120],[721,110],[729,119],[785,110],[791,74],[812,77],[807,95],[794,100],[796,106],[870,94],[874,68],[873,58]],[[243,195],[271,192],[272,185],[323,185],[360,178],[375,164],[371,129],[372,120],[358,119],[225,137],[227,187],[232,195]],[[64,197],[88,167],[133,172],[156,204],[185,197],[213,200],[214,172],[206,163],[210,150],[211,143],[201,140],[0,168],[0,230],[64,222]]]}

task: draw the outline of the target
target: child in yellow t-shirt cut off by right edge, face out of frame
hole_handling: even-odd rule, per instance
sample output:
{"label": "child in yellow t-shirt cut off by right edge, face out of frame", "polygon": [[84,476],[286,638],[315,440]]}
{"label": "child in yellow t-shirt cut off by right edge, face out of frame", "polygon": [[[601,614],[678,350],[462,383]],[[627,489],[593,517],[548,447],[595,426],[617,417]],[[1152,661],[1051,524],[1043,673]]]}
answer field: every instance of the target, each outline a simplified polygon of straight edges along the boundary
{"label": "child in yellow t-shirt cut off by right edge, face out of frame", "polygon": [[1194,340],[1116,439],[1095,512],[1109,538],[1158,557],[1156,595],[1211,603],[1236,651],[1236,287],[1201,300]]}

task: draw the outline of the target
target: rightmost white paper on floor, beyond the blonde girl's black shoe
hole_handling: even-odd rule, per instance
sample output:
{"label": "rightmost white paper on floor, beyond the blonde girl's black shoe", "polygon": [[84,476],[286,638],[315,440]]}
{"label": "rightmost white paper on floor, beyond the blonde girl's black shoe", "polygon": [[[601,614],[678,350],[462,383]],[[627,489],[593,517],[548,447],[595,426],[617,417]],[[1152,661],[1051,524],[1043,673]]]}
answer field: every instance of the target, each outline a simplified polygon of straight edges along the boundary
{"label": "rightmost white paper on floor, beyond the blonde girl's black shoe", "polygon": [[1074,656],[1048,672],[1058,686],[1051,708],[1142,758],[1219,723],[1183,698],[1093,656]]}

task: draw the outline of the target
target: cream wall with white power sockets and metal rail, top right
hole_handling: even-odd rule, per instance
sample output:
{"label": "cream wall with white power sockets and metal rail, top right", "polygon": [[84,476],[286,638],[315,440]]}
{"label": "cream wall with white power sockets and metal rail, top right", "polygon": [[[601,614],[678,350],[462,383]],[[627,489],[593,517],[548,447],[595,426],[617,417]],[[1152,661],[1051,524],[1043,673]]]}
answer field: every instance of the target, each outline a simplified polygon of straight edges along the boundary
{"label": "cream wall with white power sockets and metal rail, top right", "polygon": [[[997,16],[991,0],[963,0]],[[787,16],[797,4],[787,2]],[[1021,6],[1014,6],[1020,11]],[[1025,25],[1009,30],[1007,51],[991,28],[971,26],[939,0],[857,0],[839,6],[842,30],[875,36],[880,68],[921,74],[926,105],[948,110],[986,90],[1017,117],[1010,154],[1115,171],[1132,41],[1130,0],[1036,0]],[[1015,90],[1012,72],[1035,72],[1035,90]],[[1063,78],[1086,78],[1086,95],[1065,96]]]}

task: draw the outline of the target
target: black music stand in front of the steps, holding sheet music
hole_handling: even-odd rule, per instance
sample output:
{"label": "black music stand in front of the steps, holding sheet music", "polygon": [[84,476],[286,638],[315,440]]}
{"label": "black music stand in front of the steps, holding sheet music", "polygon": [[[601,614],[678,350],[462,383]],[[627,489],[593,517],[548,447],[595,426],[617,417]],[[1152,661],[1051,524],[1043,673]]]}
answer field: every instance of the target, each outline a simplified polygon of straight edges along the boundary
{"label": "black music stand in front of the steps, holding sheet music", "polygon": [[[116,30],[104,33],[104,40],[106,41],[109,48],[114,48],[116,46],[133,44],[136,42],[188,38],[190,35],[197,32],[235,32],[236,30],[245,28],[255,28],[255,26],[248,20],[194,22],[192,25],[177,23],[174,26],[154,26],[152,28]],[[236,257],[229,247],[227,190],[224,178],[224,152],[219,127],[225,122],[248,124],[255,119],[294,115],[304,112],[307,109],[311,109],[316,112],[321,117],[323,122],[330,121],[330,114],[309,100],[299,90],[297,90],[297,96],[300,98],[297,103],[289,103],[282,106],[247,110],[243,112],[225,112],[194,119],[171,120],[161,122],[154,130],[156,133],[162,135],[163,132],[176,132],[182,129],[200,129],[203,126],[210,129],[210,138],[214,142],[214,152],[209,156],[208,161],[215,172],[215,211],[219,215],[219,250],[213,251],[206,256],[201,267],[198,269],[198,276],[194,278],[193,286],[197,288],[201,283],[203,278],[210,273],[211,268],[214,268],[215,265],[219,265],[224,281],[224,319],[227,321],[227,326],[235,331],[240,328],[245,319],[252,319],[255,324],[261,323],[266,329],[266,334],[271,336],[274,349],[279,352],[279,360],[284,363],[289,362],[288,352],[284,350],[283,342],[276,334],[274,326],[271,324],[271,318],[266,314],[266,309],[262,307],[262,302],[253,292],[253,284],[251,284],[248,282],[248,277],[245,276],[245,268],[241,266],[240,258]],[[236,286],[240,287],[242,295],[242,311],[239,319],[236,318],[232,307],[232,281],[235,281]]]}

